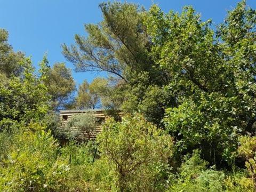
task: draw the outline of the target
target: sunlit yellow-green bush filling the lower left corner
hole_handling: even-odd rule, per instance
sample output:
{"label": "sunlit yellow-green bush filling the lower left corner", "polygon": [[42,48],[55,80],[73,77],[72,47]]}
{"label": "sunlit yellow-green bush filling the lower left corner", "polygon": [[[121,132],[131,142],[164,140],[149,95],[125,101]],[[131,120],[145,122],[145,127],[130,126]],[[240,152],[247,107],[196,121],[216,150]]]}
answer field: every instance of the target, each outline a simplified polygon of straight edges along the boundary
{"label": "sunlit yellow-green bush filling the lower left corner", "polygon": [[0,190],[64,190],[69,166],[58,158],[58,150],[51,133],[36,124],[15,134],[0,166]]}

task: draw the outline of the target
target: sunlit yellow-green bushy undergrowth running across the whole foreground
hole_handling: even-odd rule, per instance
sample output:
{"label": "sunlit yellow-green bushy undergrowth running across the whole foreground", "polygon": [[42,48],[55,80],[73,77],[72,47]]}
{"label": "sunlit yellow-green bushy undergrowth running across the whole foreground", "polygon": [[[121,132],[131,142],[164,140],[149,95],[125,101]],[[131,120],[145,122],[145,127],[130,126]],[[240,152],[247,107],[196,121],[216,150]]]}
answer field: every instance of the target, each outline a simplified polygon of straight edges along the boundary
{"label": "sunlit yellow-green bushy undergrowth running across the whole foreground", "polygon": [[[254,191],[249,163],[217,170],[194,150],[173,169],[172,138],[140,115],[109,120],[97,141],[62,147],[38,124],[0,137],[1,191]],[[251,162],[254,138],[241,141]]]}

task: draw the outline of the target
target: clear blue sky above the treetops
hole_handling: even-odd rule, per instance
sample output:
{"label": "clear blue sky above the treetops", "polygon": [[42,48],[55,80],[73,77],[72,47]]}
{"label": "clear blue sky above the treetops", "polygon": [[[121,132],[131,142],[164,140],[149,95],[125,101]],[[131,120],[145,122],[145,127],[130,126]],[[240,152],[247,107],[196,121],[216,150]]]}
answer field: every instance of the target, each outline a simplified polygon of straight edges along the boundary
{"label": "clear blue sky above the treetops", "polygon": [[[0,0],[0,28],[9,31],[9,42],[14,50],[31,55],[37,66],[47,52],[51,65],[65,61],[69,68],[73,65],[61,54],[62,43],[74,42],[74,35],[86,35],[84,23],[101,21],[98,0]],[[146,9],[154,2],[165,12],[180,12],[185,5],[193,5],[202,19],[213,19],[218,24],[223,21],[227,10],[235,7],[238,0],[128,0],[144,5]],[[247,0],[256,9],[256,0]],[[91,82],[100,74],[73,73],[79,84],[84,79]]]}

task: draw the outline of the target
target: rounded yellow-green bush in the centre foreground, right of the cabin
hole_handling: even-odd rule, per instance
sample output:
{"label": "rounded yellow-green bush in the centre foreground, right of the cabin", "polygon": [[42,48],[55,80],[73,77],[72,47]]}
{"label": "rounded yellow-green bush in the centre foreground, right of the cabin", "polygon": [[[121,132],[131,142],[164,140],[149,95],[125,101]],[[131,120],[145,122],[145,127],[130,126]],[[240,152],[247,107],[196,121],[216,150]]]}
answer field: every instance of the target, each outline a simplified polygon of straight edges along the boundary
{"label": "rounded yellow-green bush in the centre foreground, right of the cabin", "polygon": [[122,122],[107,121],[97,140],[120,191],[164,189],[172,155],[170,135],[135,114]]}

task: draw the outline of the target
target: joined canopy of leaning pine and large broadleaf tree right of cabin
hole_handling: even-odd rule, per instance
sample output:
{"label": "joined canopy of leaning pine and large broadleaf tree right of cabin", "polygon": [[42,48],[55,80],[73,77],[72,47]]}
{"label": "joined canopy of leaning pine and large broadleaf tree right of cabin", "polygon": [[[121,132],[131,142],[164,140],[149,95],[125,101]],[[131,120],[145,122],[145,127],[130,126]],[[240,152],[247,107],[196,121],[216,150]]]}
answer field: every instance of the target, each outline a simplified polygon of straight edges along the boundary
{"label": "joined canopy of leaning pine and large broadleaf tree right of cabin", "polygon": [[85,25],[89,35],[76,35],[76,45],[64,44],[65,57],[77,71],[119,77],[120,108],[168,130],[179,153],[200,148],[211,164],[230,164],[239,136],[254,134],[255,10],[242,1],[214,29],[191,6],[100,9],[102,22]]}

